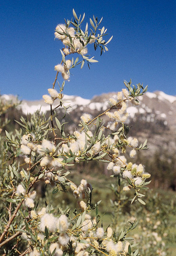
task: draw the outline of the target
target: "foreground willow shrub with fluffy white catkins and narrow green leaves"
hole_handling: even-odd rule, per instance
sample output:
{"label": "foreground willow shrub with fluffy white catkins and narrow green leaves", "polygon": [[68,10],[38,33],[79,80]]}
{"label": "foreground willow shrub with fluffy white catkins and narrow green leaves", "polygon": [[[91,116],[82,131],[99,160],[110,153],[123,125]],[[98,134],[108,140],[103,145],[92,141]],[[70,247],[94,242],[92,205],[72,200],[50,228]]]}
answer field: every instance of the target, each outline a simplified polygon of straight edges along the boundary
{"label": "foreground willow shrub with fluffy white catkins and narrow green leaves", "polygon": [[[96,63],[94,57],[88,55],[88,46],[100,49],[102,54],[108,51],[107,44],[112,39],[104,39],[107,29],[100,28],[102,18],[100,21],[94,16],[90,18],[91,28],[88,29],[86,23],[83,31],[85,15],[77,17],[74,10],[73,15],[73,20],[58,24],[55,31],[56,39],[64,47],[60,50],[61,63],[55,66],[56,78],[52,88],[43,95],[50,105],[49,120],[37,111],[30,121],[21,118],[18,122],[21,129],[13,133],[6,131],[5,140],[0,137],[2,255],[136,256],[141,250],[140,244],[134,244],[128,237],[136,227],[136,221],[124,223],[120,230],[113,230],[111,223],[104,228],[98,212],[101,200],[92,204],[92,185],[86,179],[75,184],[69,179],[69,174],[75,163],[105,162],[118,186],[124,184],[122,197],[129,190],[133,192],[126,204],[145,205],[141,189],[149,184],[146,179],[150,174],[145,172],[142,164],[135,164],[132,160],[136,150],[147,149],[147,141],[139,145],[136,138],[128,136],[126,108],[130,104],[138,105],[137,98],[146,92],[147,87],[124,81],[126,88],[109,99],[106,111],[95,118],[84,113],[79,127],[72,134],[66,134],[66,123],[63,119],[58,120],[57,109],[65,109],[67,114],[63,90],[70,78],[70,70],[75,66],[83,68],[84,63],[89,67]],[[104,121],[105,115],[109,122]],[[131,162],[126,160],[126,154]],[[77,201],[75,209],[52,205],[52,202],[47,204],[37,192],[42,184],[53,195],[71,193]]]}

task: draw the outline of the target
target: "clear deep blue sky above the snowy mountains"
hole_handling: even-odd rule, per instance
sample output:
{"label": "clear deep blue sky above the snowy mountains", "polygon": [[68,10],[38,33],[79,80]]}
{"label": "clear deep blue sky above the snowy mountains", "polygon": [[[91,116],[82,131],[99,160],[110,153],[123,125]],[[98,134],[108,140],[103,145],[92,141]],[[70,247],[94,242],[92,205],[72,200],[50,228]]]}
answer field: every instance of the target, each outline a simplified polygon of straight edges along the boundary
{"label": "clear deep blue sky above the snowy mountains", "polygon": [[[132,79],[149,86],[149,91],[162,90],[176,94],[174,1],[3,1],[0,8],[0,93],[15,94],[20,99],[41,99],[52,87],[61,61],[54,40],[54,29],[64,18],[85,12],[85,21],[103,16],[108,29],[109,51],[95,52],[91,69],[84,65],[72,70],[65,94],[92,98],[105,92],[119,91],[123,80]],[[102,27],[101,26],[101,27]],[[89,23],[90,27],[90,23]],[[93,44],[90,45],[93,47]],[[91,51],[92,52],[92,51]],[[59,80],[61,81],[61,80]]]}

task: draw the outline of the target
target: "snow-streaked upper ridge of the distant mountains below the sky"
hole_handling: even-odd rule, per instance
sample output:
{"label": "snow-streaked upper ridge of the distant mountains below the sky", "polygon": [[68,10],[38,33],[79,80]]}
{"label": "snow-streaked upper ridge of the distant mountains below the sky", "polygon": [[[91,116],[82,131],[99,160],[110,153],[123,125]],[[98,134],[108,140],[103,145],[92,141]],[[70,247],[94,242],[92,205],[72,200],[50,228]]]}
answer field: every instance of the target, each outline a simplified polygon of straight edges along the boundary
{"label": "snow-streaked upper ridge of the distant mountains below the sky", "polygon": [[[65,106],[70,106],[69,112],[88,112],[95,116],[95,112],[105,111],[109,108],[108,99],[115,96],[117,93],[111,92],[94,96],[92,99],[83,99],[79,96],[64,95],[63,103]],[[5,100],[16,100],[13,95],[2,96]],[[176,96],[165,94],[162,91],[146,92],[139,98],[139,106],[129,106],[127,111],[130,118],[135,118],[138,115],[143,116],[146,122],[163,121],[164,125],[169,125],[170,129],[176,127]],[[53,108],[59,105],[59,99],[54,101]],[[23,114],[33,114],[41,108],[42,112],[50,111],[50,105],[46,104],[43,99],[36,101],[23,100],[19,106]],[[63,109],[57,109],[63,111]]]}

